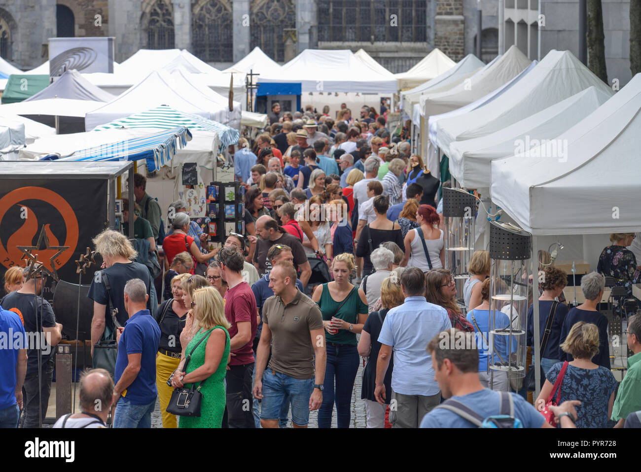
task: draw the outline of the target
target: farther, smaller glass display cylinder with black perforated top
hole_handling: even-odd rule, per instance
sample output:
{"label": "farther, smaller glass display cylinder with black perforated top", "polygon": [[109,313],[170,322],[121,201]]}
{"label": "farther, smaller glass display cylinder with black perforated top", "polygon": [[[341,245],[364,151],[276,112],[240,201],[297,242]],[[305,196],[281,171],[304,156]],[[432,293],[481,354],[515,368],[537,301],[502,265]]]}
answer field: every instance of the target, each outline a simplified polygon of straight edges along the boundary
{"label": "farther, smaller glass display cylinder with black perforated top", "polygon": [[456,282],[456,294],[463,302],[463,285],[470,274],[467,267],[474,252],[474,221],[476,198],[461,189],[443,189],[443,219],[445,226],[445,269]]}

